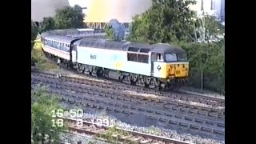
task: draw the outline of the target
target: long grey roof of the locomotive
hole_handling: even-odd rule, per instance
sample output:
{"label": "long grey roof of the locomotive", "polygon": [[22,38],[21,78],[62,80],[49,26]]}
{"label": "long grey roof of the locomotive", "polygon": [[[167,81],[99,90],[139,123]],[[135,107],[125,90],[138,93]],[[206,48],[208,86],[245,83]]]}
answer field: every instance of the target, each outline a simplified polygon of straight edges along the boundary
{"label": "long grey roof of the locomotive", "polygon": [[149,51],[155,53],[186,53],[185,50],[171,46],[165,43],[158,43],[150,45],[148,43],[140,42],[123,42],[123,41],[113,41],[99,38],[82,38],[78,42],[75,42],[78,46],[94,47],[100,49],[109,50],[122,50],[122,51],[132,51],[132,52],[142,52],[148,53]]}

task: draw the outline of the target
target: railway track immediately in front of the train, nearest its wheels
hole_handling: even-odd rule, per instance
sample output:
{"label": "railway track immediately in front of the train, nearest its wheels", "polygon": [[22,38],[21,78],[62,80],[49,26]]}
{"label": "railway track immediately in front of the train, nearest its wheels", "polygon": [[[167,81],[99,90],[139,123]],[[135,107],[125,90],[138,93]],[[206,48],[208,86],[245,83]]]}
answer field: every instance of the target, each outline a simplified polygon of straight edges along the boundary
{"label": "railway track immediately in front of the train, nearest its wheels", "polygon": [[[49,72],[42,72],[39,70],[32,70],[33,74],[40,74],[44,75],[48,78],[56,78],[56,74],[49,73]],[[101,85],[103,87],[106,87],[108,89],[118,89],[118,90],[126,90],[126,91],[134,91],[138,94],[147,94],[147,95],[156,95],[158,97],[166,97],[171,100],[175,101],[186,101],[186,102],[198,102],[202,105],[209,105],[213,107],[225,107],[225,101],[223,99],[219,98],[210,98],[210,97],[202,97],[198,96],[196,94],[186,94],[184,92],[172,92],[172,94],[167,92],[161,92],[158,90],[152,90],[152,89],[146,89],[139,86],[130,86],[119,82],[105,82],[105,81],[97,81],[98,78],[75,78],[68,75],[63,74],[62,80],[64,81],[71,81],[71,82],[77,82],[80,84],[93,84],[93,85]],[[222,112],[225,110],[223,109]]]}

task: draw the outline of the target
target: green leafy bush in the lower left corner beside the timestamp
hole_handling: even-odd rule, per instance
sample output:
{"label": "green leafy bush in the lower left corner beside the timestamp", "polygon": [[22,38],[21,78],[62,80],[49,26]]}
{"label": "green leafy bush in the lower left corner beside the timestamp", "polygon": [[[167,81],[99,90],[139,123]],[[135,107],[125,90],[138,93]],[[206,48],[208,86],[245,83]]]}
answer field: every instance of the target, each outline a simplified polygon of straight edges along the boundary
{"label": "green leafy bush in the lower left corner beside the timestamp", "polygon": [[[34,142],[43,141],[45,134],[50,139],[58,140],[58,135],[66,126],[53,126],[52,110],[63,110],[58,106],[58,98],[47,94],[46,90],[38,87],[32,92],[31,105],[31,134]],[[56,124],[57,125],[57,124]]]}

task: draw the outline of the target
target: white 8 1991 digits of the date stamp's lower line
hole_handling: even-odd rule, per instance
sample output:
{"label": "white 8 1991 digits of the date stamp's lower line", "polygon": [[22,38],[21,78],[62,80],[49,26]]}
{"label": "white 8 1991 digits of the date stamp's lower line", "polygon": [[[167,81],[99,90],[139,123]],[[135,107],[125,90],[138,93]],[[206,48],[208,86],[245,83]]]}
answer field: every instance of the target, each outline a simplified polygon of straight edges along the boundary
{"label": "white 8 1991 digits of the date stamp's lower line", "polygon": [[[82,119],[78,119],[77,120],[77,126],[83,126],[83,120]],[[101,126],[107,126],[107,127],[113,127],[115,126],[115,121],[114,120],[109,120],[109,119],[106,119],[106,118],[92,118],[90,120],[90,122],[93,123],[93,126],[98,126],[98,127],[101,127]]]}

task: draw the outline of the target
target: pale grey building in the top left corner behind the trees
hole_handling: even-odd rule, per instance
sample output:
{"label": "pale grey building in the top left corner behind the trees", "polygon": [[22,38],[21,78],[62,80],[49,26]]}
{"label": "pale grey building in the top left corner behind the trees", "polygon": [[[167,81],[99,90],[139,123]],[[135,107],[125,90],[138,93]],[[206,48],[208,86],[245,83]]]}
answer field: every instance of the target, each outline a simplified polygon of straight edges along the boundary
{"label": "pale grey building in the top left corner behind the trees", "polygon": [[68,0],[31,0],[31,19],[42,22],[44,17],[53,17],[55,10],[70,6]]}

